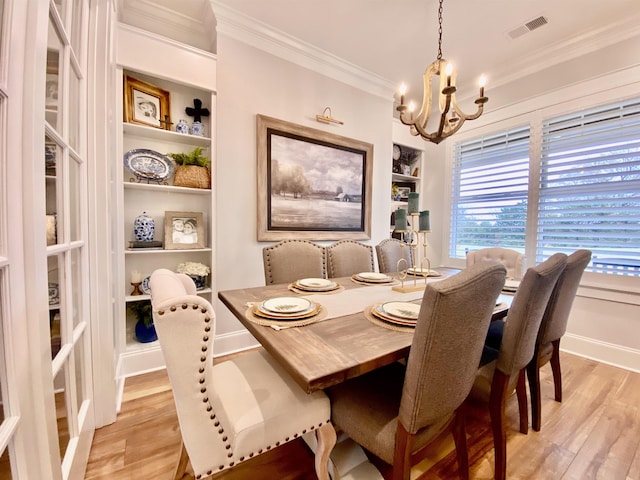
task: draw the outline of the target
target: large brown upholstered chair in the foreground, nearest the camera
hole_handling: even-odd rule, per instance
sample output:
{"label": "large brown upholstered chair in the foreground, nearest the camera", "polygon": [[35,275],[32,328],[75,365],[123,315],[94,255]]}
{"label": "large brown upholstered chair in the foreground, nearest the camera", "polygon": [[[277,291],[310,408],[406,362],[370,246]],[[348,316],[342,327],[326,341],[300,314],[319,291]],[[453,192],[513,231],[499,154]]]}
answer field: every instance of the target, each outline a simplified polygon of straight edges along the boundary
{"label": "large brown upholstered chair in the foreground, nearest the camera", "polygon": [[[405,366],[396,362],[327,390],[334,424],[408,480],[411,465],[450,430],[469,478],[464,413],[506,269],[483,262],[427,284]],[[383,327],[380,327],[383,328]]]}

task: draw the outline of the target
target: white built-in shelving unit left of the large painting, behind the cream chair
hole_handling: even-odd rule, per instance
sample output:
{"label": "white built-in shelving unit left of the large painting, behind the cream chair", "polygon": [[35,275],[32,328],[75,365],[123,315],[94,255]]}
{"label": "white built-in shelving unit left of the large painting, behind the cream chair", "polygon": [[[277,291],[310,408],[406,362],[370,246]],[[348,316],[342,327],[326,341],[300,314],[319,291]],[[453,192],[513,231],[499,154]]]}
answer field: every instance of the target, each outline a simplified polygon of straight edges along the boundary
{"label": "white built-in shelving unit left of the large painting, behind the cream chair", "polygon": [[[126,28],[120,41],[127,41],[129,49],[119,50],[122,58],[117,69],[119,88],[117,112],[125,119],[125,78],[133,77],[158,89],[169,92],[171,126],[167,129],[129,123],[123,120],[118,129],[118,155],[114,159],[117,218],[120,228],[115,238],[115,334],[118,355],[117,376],[124,377],[160,368],[164,365],[158,341],[141,343],[135,336],[137,319],[127,306],[133,302],[149,301],[150,295],[131,295],[133,271],[146,278],[158,268],[175,271],[183,262],[199,262],[211,268],[206,288],[198,294],[209,301],[215,298],[215,195],[212,188],[188,188],[173,185],[173,176],[154,183],[140,181],[129,172],[124,155],[134,149],[149,149],[162,155],[188,153],[196,147],[211,160],[211,176],[215,178],[215,139],[213,131],[216,113],[215,56],[147,32]],[[161,56],[149,52],[162,52]],[[193,68],[185,68],[185,58]],[[191,73],[190,73],[191,72]],[[208,74],[207,74],[208,73]],[[202,101],[209,116],[202,117],[204,136],[178,133],[175,125],[180,119],[193,121],[185,109],[193,107],[194,99]],[[202,248],[173,249],[165,243],[165,212],[197,212],[202,214],[204,246]],[[160,248],[132,248],[135,239],[134,221],[145,213],[154,220],[154,240],[163,242]]]}

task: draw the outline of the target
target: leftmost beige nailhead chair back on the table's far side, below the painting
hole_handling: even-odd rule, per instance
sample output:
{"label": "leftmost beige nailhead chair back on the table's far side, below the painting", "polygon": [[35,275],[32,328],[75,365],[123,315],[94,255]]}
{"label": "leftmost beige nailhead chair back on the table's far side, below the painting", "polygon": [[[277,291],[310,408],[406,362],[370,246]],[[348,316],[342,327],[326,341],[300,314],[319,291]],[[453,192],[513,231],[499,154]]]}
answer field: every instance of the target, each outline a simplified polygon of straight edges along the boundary
{"label": "leftmost beige nailhead chair back on the table's far side, below the painting", "polygon": [[262,249],[267,285],[301,278],[327,278],[325,248],[308,240],[283,240]]}

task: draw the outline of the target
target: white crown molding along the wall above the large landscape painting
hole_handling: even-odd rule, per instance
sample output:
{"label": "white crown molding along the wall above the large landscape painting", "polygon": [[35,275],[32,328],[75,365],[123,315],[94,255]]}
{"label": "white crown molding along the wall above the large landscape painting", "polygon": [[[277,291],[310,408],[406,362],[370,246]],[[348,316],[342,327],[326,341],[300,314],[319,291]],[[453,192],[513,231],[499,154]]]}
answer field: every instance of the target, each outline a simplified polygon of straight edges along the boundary
{"label": "white crown molding along the wall above the large landscape painting", "polygon": [[211,1],[211,6],[217,20],[218,35],[246,43],[385,100],[393,100],[395,85],[390,80],[215,0]]}

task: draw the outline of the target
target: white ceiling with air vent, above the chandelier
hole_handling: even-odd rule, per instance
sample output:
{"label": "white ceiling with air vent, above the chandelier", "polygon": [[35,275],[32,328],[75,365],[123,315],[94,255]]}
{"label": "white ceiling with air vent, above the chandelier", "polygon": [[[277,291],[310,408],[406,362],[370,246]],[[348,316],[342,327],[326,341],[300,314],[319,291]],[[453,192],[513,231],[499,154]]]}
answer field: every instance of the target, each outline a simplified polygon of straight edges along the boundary
{"label": "white ceiling with air vent, above the chandelier", "polygon": [[[121,7],[149,1],[120,0]],[[207,0],[150,3],[202,22]],[[422,73],[437,55],[437,0],[211,0],[211,4],[214,11],[216,4],[222,4],[393,85],[404,81],[418,100]],[[508,32],[541,15],[547,25],[510,38]],[[456,66],[459,87],[471,87],[485,73],[489,96],[492,84],[640,34],[639,0],[446,0],[443,17],[442,53]]]}

